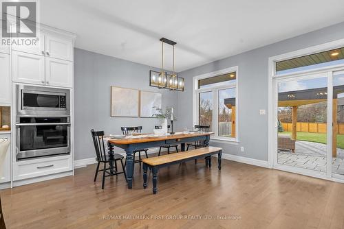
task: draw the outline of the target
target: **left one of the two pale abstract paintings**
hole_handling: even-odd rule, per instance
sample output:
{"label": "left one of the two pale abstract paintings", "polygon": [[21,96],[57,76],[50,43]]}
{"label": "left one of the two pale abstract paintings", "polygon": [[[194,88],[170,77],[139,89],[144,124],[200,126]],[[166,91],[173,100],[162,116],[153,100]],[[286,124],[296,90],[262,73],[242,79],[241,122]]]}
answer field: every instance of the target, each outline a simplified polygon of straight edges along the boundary
{"label": "left one of the two pale abstract paintings", "polygon": [[138,117],[140,91],[111,86],[111,117]]}

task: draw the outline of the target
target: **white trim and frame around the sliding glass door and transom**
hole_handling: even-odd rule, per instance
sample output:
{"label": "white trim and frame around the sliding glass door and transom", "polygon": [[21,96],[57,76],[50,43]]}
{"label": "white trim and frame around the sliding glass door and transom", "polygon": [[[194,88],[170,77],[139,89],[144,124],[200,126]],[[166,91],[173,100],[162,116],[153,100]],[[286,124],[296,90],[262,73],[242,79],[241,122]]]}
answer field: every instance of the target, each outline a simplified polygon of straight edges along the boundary
{"label": "white trim and frame around the sliding glass door and transom", "polygon": [[[276,80],[275,79],[288,79],[288,78],[293,78],[295,76],[299,76],[299,78],[307,78],[308,75],[312,74],[321,74],[321,73],[327,73],[327,88],[330,88],[327,90],[327,95],[330,97],[329,93],[332,94],[332,73],[333,71],[340,71],[343,69],[344,64],[336,64],[334,66],[330,67],[322,67],[322,68],[317,68],[317,69],[310,69],[310,70],[305,70],[305,71],[297,71],[294,73],[285,73],[281,75],[276,75],[276,66],[275,62],[282,61],[282,60],[288,60],[292,58],[297,58],[300,56],[306,56],[312,53],[319,53],[321,51],[327,51],[331,49],[336,49],[339,47],[344,46],[344,39],[340,40],[334,40],[329,43],[324,43],[321,45],[315,45],[312,47],[308,47],[305,49],[299,49],[297,51],[291,51],[289,53],[283,53],[278,56],[272,56],[268,58],[268,165],[269,167],[273,167],[274,169],[280,169],[283,171],[291,171],[292,169],[295,170],[294,168],[284,168],[281,167],[281,165],[277,165],[277,156],[275,156],[275,149],[277,147],[277,134],[276,128],[277,128],[277,123],[275,123],[274,119],[277,117],[277,110],[275,109],[277,101],[274,101],[274,97],[277,93],[277,88],[276,88]],[[302,76],[302,77],[300,77]],[[331,82],[330,82],[331,81]],[[331,96],[332,97],[332,96]],[[277,100],[277,98],[275,98]],[[277,122],[277,121],[276,121]],[[332,99],[327,99],[327,123],[332,123]],[[329,141],[330,139],[330,141]],[[332,160],[332,125],[327,125],[327,161]],[[322,178],[325,180],[333,180],[333,181],[338,181],[339,179],[334,178],[334,174],[332,174],[332,167],[330,163],[327,163],[327,169],[326,173],[324,174],[316,174],[314,171],[305,171],[301,169],[300,171],[295,170],[292,172],[295,173],[301,173],[306,176],[314,176],[317,178]],[[343,182],[343,180],[339,180],[340,182]]]}

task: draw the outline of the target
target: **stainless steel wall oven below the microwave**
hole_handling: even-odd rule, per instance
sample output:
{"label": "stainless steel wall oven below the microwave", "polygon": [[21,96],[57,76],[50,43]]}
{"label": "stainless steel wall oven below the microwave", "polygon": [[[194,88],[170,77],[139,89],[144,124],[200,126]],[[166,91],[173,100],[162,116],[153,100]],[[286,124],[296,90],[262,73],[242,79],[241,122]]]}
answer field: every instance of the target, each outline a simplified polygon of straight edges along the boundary
{"label": "stainless steel wall oven below the microwave", "polygon": [[17,117],[17,160],[70,154],[69,117]]}

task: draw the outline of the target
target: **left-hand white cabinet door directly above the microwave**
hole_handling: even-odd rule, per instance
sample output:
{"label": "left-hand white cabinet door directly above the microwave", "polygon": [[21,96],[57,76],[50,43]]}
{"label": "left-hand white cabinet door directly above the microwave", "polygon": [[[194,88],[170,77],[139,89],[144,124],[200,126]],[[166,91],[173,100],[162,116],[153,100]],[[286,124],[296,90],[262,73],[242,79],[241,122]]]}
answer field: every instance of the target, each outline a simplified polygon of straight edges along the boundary
{"label": "left-hand white cabinet door directly above the microwave", "polygon": [[12,81],[45,84],[44,56],[12,51]]}

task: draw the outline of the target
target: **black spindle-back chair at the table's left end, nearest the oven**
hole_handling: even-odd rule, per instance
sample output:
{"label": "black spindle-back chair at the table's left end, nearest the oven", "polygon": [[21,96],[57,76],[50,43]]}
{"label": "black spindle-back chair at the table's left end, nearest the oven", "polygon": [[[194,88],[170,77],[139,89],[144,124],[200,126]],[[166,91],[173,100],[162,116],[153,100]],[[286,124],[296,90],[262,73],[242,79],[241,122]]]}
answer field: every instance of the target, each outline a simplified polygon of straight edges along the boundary
{"label": "black spindle-back chair at the table's left end, nearest the oven", "polygon": [[[118,176],[118,174],[123,173],[125,175],[125,180],[127,181],[127,175],[125,174],[125,165],[123,165],[122,159],[125,158],[124,156],[120,154],[111,154],[109,155],[107,153],[107,150],[105,150],[105,144],[104,144],[104,131],[94,131],[91,130],[92,139],[94,143],[94,149],[96,149],[96,160],[98,162],[96,174],[94,175],[94,182],[97,180],[98,172],[103,171],[103,181],[102,181],[102,189],[104,189],[105,184],[105,177],[107,176]],[[122,172],[118,172],[117,169],[117,161],[120,160],[120,164],[122,165]],[[114,162],[115,164],[115,170],[111,167],[107,168],[107,164],[110,162]],[[104,163],[103,169],[99,169],[100,163]],[[108,171],[110,170],[110,171]],[[107,175],[105,175],[107,173]]]}

